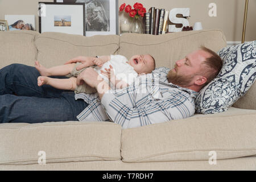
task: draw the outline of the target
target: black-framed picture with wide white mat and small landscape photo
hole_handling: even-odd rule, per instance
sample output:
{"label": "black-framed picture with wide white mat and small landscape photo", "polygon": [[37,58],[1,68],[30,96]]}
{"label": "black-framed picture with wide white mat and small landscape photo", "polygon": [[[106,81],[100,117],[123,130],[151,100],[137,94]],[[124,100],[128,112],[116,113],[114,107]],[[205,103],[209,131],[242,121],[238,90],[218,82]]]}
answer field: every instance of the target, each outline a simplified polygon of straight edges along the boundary
{"label": "black-framed picture with wide white mat and small landscape photo", "polygon": [[85,4],[39,2],[39,32],[85,36]]}

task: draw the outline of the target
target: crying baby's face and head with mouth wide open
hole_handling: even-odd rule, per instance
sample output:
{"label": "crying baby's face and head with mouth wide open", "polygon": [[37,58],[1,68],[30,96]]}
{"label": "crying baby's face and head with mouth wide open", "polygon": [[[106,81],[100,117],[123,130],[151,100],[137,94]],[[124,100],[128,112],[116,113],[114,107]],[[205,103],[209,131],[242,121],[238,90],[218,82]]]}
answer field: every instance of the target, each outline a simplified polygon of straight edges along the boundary
{"label": "crying baby's face and head with mouth wide open", "polygon": [[134,55],[130,58],[128,64],[130,64],[138,74],[151,73],[155,69],[154,59],[150,55]]}

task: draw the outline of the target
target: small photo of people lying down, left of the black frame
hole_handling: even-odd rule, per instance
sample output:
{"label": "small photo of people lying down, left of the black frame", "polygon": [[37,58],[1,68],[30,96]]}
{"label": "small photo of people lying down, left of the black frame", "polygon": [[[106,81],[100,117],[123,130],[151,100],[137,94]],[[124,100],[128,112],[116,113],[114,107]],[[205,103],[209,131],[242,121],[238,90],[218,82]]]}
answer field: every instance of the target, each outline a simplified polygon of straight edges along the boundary
{"label": "small photo of people lying down, left of the black frame", "polygon": [[9,30],[36,30],[35,15],[5,15]]}

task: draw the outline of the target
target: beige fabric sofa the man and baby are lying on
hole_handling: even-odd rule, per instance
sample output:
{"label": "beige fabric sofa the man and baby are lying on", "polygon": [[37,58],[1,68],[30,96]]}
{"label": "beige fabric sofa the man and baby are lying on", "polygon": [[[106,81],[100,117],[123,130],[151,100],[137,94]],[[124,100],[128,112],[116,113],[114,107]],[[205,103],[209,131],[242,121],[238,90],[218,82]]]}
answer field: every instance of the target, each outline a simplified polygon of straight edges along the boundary
{"label": "beige fabric sofa the man and baby are lying on", "polygon": [[[172,68],[175,60],[201,45],[218,51],[226,46],[225,36],[220,30],[93,37],[0,32],[0,68],[34,65],[35,60],[52,67],[78,55],[115,53],[150,53],[156,67]],[[255,170],[255,97],[256,84],[224,113],[195,114],[134,129],[112,122],[2,123],[0,169]],[[44,156],[46,164],[39,164]]]}

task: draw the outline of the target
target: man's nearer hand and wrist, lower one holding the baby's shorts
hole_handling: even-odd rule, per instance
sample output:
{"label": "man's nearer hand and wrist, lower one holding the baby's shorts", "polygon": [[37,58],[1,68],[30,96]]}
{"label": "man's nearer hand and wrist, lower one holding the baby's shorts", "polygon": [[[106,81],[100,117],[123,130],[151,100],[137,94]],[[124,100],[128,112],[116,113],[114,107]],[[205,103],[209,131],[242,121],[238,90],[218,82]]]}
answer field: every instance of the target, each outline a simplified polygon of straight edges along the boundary
{"label": "man's nearer hand and wrist, lower one holding the baby's shorts", "polygon": [[93,68],[87,68],[77,76],[77,85],[81,85],[84,82],[92,88],[96,88],[100,98],[110,90],[108,83]]}

